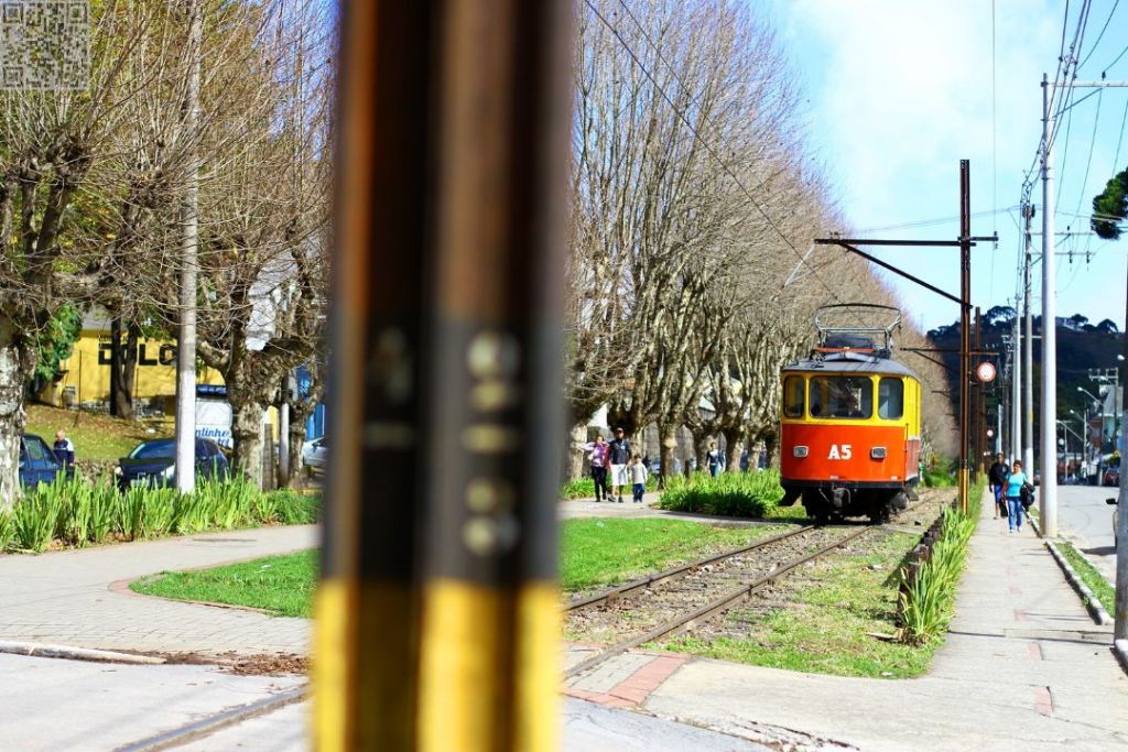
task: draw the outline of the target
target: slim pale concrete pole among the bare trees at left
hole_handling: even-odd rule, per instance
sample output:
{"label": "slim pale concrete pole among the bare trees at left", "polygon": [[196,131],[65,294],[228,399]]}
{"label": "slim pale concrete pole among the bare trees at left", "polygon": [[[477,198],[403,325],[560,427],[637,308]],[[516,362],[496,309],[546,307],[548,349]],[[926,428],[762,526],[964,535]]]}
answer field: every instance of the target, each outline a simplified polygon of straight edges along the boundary
{"label": "slim pale concrete pole among the bare trees at left", "polygon": [[200,120],[200,52],[203,37],[200,3],[188,11],[188,80],[184,100],[184,130],[188,141],[187,184],[182,209],[180,321],[176,338],[176,489],[196,488],[196,265],[200,244],[200,158],[196,124]]}

